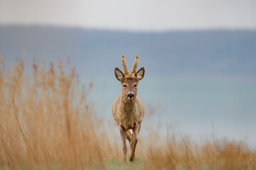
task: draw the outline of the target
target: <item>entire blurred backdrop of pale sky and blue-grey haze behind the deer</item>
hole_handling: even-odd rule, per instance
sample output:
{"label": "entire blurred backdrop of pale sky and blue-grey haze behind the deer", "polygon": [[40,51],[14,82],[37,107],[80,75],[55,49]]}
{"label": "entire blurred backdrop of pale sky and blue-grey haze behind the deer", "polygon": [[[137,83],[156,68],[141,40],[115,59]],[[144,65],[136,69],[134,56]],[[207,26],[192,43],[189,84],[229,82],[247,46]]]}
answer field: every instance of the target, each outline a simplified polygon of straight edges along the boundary
{"label": "entire blurred backdrop of pale sky and blue-grey haze behind the deer", "polygon": [[139,55],[146,72],[138,96],[145,114],[157,111],[161,135],[168,124],[195,141],[214,130],[256,147],[254,0],[0,0],[0,55],[7,70],[22,59],[27,75],[33,59],[75,67],[113,122],[122,89],[114,68],[124,55],[131,69]]}

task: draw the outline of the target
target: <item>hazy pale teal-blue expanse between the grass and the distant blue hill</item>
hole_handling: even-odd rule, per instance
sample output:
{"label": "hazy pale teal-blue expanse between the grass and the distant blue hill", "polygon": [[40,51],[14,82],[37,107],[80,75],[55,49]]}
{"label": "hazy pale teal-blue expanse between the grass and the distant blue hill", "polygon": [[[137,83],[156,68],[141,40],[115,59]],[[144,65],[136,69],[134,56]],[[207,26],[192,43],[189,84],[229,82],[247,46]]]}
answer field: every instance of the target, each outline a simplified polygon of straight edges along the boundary
{"label": "hazy pale teal-blue expanse between the grass and the distant blue hill", "polygon": [[[85,84],[91,80],[81,79]],[[112,102],[121,94],[121,84],[114,76],[94,78],[93,82],[90,98],[105,104],[104,115],[111,120]],[[180,130],[195,141],[214,130],[219,139],[246,139],[256,146],[256,79],[145,76],[139,82],[138,96],[146,111],[157,108],[154,120],[161,123],[161,135],[166,135],[168,123],[171,131]]]}

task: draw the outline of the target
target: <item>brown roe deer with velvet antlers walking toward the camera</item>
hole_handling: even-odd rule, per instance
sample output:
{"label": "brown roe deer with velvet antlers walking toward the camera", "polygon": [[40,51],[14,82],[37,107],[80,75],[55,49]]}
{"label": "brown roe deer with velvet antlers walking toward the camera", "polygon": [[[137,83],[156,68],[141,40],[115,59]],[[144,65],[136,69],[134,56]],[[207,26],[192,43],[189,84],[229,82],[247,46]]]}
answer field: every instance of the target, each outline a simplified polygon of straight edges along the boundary
{"label": "brown roe deer with velvet antlers walking toward the camera", "polygon": [[[122,67],[124,74],[118,69],[114,69],[114,74],[117,80],[122,84],[122,95],[117,97],[112,106],[114,120],[119,125],[120,135],[122,138],[124,162],[127,159],[126,140],[129,140],[131,156],[130,162],[134,161],[135,148],[138,142],[137,135],[141,128],[142,118],[144,117],[144,103],[142,99],[137,97],[137,85],[139,80],[144,77],[144,67],[137,70],[139,56],[136,56],[132,67],[132,72],[129,74],[124,55],[122,56]],[[130,130],[132,129],[132,134]]]}

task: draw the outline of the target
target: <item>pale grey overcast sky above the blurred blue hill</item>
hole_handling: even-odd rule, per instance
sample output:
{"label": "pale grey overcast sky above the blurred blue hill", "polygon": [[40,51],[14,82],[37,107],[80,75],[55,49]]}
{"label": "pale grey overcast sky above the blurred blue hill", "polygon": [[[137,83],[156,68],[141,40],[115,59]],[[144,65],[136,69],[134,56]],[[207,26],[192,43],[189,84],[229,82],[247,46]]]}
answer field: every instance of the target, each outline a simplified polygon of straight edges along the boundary
{"label": "pale grey overcast sky above the blurred blue hill", "polygon": [[0,24],[150,31],[256,29],[256,1],[0,0]]}

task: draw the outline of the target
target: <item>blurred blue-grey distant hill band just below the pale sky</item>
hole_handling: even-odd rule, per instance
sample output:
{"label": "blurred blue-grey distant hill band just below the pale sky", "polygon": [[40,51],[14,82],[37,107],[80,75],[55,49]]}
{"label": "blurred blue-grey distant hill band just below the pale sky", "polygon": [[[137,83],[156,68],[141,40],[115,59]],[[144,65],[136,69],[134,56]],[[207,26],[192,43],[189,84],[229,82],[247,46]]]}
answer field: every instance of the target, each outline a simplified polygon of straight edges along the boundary
{"label": "blurred blue-grey distant hill band just below the pale sky", "polygon": [[[23,54],[24,52],[24,54]],[[47,26],[0,26],[0,55],[7,65],[67,60],[79,74],[112,75],[136,55],[146,74],[256,77],[256,30],[196,30],[129,33]]]}

